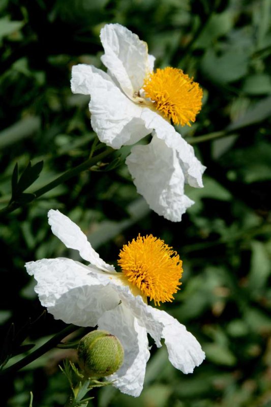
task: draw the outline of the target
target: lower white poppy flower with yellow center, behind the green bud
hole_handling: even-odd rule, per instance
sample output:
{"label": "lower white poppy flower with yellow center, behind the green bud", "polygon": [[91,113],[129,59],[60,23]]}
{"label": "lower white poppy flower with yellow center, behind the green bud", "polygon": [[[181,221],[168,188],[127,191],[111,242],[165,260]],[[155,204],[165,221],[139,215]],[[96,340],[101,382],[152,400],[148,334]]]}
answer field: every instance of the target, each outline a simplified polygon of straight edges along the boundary
{"label": "lower white poppy flower with yellow center, behind the green bud", "polygon": [[119,254],[122,272],[106,264],[88,243],[81,229],[61,212],[48,213],[52,232],[67,247],[79,250],[90,262],[85,266],[68,258],[43,258],[26,263],[41,304],[67,324],[95,327],[118,337],[124,347],[124,363],[110,375],[123,393],[138,396],[149,358],[147,333],[158,347],[165,339],[174,367],[192,373],[205,355],[186,327],[165,311],[147,305],[172,301],[182,275],[178,255],[152,235],[138,237]]}

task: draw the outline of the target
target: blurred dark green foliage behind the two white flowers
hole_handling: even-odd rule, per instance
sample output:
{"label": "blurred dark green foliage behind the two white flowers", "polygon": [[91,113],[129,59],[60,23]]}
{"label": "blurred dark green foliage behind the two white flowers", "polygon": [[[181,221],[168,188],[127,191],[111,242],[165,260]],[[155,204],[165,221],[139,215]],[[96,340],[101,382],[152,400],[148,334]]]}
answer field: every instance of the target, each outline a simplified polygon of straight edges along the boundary
{"label": "blurred dark green foliage behind the two white flowers", "polygon": [[[24,270],[29,260],[76,258],[50,232],[47,210],[54,208],[76,221],[109,263],[139,232],[172,245],[185,272],[176,300],[163,308],[206,353],[206,361],[184,375],[164,347],[153,347],[139,398],[108,387],[95,391],[90,405],[271,406],[270,10],[270,0],[1,1],[2,208],[16,163],[21,173],[29,160],[44,160],[31,192],[87,159],[95,134],[88,98],[70,91],[71,67],[102,68],[99,32],[108,22],[145,40],[157,67],[182,68],[201,84],[204,105],[196,123],[177,130],[207,167],[204,188],[187,188],[196,203],[180,223],[148,210],[123,164],[128,148],[114,153],[117,168],[84,171],[2,214],[2,359],[8,352],[11,363],[18,360],[21,343],[41,344],[65,326],[42,314]],[[52,350],[2,379],[4,404],[28,407],[32,390],[33,407],[62,406],[69,388],[57,364],[64,356]]]}

